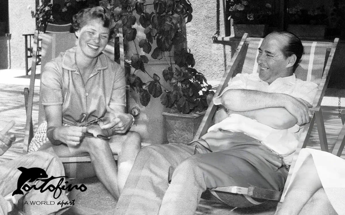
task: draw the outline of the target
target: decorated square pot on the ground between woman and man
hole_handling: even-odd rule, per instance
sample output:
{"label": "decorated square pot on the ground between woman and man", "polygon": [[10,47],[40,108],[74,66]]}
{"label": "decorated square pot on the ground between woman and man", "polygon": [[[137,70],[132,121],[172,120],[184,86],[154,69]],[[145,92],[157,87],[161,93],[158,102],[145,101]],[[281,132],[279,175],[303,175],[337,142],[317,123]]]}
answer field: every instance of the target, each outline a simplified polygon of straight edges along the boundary
{"label": "decorated square pot on the ground between woman and man", "polygon": [[206,111],[198,114],[171,114],[163,112],[169,143],[187,144],[193,140]]}

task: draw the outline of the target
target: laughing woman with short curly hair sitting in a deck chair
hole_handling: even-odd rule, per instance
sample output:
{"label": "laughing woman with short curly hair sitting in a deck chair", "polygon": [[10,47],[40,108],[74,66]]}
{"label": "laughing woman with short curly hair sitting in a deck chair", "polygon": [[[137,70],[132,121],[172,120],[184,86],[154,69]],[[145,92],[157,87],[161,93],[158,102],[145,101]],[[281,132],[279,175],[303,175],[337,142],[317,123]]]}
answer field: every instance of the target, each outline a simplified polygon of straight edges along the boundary
{"label": "laughing woman with short curly hair sitting in a deck chair", "polygon": [[[49,141],[40,150],[52,147],[59,157],[90,155],[97,177],[118,197],[140,149],[140,135],[128,131],[134,117],[125,114],[124,71],[102,53],[115,23],[109,11],[94,7],[74,15],[73,28],[77,46],[43,69],[41,99],[47,131],[42,124],[41,135],[36,133],[33,142],[46,135]],[[87,131],[96,136],[101,129],[115,135],[110,140],[85,136]],[[118,166],[113,154],[119,155]]]}

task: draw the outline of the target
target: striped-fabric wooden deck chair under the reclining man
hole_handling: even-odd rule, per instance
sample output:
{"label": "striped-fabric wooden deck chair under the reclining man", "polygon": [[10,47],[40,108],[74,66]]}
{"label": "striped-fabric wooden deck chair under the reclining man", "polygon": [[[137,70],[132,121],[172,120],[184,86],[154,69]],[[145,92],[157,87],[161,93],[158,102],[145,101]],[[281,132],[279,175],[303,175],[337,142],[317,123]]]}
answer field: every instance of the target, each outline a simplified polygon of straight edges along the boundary
{"label": "striped-fabric wooden deck chair under the reclining man", "polygon": [[[220,41],[229,41],[229,37],[219,37]],[[258,47],[260,47],[263,39],[262,38],[250,38],[247,37],[245,33],[240,41],[236,52],[231,58],[230,64],[226,69],[226,72],[221,79],[221,82],[216,90],[214,97],[220,95],[220,93],[227,87],[229,80],[238,73],[257,73],[259,68],[256,63],[256,58],[258,56]],[[307,123],[303,128],[303,133],[300,138],[298,148],[294,155],[294,160],[290,166],[289,176],[292,173],[294,162],[297,159],[298,153],[301,148],[306,147],[308,138],[310,137],[313,124],[316,120],[317,127],[319,130],[319,139],[321,143],[321,148],[327,151],[327,140],[325,136],[325,128],[323,125],[322,112],[319,106],[321,105],[322,98],[325,94],[327,88],[328,80],[330,77],[330,67],[332,64],[333,56],[339,39],[336,38],[334,42],[313,42],[313,41],[302,41],[304,46],[304,55],[300,61],[300,64],[296,68],[295,74],[297,78],[302,80],[309,80],[318,85],[317,94],[313,101],[313,106],[315,108],[315,114],[313,115],[311,122]],[[217,110],[217,107],[211,102],[206,114],[201,122],[198,131],[194,137],[194,140],[198,140],[203,136],[211,125],[212,118]],[[343,131],[343,130],[342,130]],[[343,136],[345,129],[343,131]],[[339,146],[339,148],[344,147]],[[288,181],[287,183],[288,184]],[[279,201],[282,196],[282,192],[262,189],[259,187],[249,186],[249,187],[237,187],[237,186],[227,186],[227,187],[217,187],[215,189],[207,190],[202,195],[201,198],[206,200],[215,201],[218,203],[225,203],[227,193],[237,193],[244,194],[250,197],[261,198],[266,200]],[[220,198],[221,196],[221,198]]]}

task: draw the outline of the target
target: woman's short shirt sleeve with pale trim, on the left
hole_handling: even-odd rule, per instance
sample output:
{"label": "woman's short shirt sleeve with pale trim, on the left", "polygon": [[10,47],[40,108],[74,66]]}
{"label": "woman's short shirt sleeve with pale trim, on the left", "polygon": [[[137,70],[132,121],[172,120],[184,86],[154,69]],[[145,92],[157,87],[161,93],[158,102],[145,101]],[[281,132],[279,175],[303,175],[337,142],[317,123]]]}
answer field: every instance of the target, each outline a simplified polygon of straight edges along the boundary
{"label": "woman's short shirt sleeve with pale trim, on the left", "polygon": [[62,77],[53,62],[48,62],[44,66],[40,92],[42,105],[62,105]]}

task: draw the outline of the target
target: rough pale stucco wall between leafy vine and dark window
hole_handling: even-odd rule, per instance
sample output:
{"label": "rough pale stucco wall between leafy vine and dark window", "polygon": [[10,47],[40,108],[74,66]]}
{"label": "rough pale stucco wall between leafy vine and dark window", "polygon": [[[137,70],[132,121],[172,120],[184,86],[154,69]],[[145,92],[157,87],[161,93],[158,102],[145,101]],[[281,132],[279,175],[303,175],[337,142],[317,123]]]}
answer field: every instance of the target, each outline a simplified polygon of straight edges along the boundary
{"label": "rough pale stucco wall between leafy vine and dark window", "polygon": [[[190,0],[193,20],[187,23],[187,45],[194,55],[197,71],[207,80],[220,80],[231,59],[230,46],[214,44],[217,31],[217,5],[215,0]],[[220,35],[224,33],[223,0],[220,0]]]}

